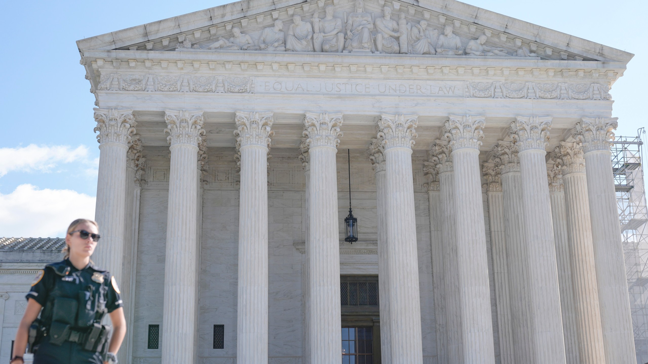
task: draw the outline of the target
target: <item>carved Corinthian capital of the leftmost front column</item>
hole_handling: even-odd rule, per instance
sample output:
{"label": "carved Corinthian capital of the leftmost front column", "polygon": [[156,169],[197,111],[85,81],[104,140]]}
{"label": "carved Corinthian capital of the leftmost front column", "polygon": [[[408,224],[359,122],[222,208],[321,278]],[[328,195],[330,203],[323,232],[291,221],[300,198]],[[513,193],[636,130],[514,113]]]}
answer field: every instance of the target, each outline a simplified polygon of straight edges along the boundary
{"label": "carved Corinthian capital of the leftmost front column", "polygon": [[95,121],[97,121],[97,126],[94,131],[99,132],[97,142],[101,145],[120,143],[128,146],[137,125],[131,109],[95,108]]}

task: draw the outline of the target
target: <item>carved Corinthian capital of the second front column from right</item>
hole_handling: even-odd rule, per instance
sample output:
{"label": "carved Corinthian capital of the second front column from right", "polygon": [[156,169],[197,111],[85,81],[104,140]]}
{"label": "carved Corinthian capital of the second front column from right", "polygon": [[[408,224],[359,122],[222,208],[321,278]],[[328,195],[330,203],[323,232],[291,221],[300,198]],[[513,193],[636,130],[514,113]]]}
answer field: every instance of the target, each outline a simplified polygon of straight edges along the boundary
{"label": "carved Corinthian capital of the second front column from right", "polygon": [[511,122],[511,137],[519,152],[546,148],[551,129],[551,117],[515,117]]}

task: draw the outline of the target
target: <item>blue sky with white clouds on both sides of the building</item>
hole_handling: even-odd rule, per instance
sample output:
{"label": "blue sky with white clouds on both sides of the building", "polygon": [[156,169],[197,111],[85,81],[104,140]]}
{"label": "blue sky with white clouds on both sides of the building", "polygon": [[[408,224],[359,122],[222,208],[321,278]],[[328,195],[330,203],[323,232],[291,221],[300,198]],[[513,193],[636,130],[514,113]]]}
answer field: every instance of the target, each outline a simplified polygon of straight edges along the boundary
{"label": "blue sky with white clouds on both sides of the building", "polygon": [[[0,57],[0,236],[60,236],[67,222],[94,216],[98,144],[95,98],[76,40],[227,1],[6,1]],[[612,88],[618,135],[647,126],[646,1],[469,0],[635,54]],[[32,145],[33,144],[33,145]]]}

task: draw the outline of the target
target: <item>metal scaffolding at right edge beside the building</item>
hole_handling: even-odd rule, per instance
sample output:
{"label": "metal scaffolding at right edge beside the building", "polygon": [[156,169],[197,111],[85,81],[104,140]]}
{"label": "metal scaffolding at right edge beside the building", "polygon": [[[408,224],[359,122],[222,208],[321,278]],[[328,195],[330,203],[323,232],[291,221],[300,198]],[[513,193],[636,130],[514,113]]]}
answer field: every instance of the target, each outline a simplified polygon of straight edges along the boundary
{"label": "metal scaffolding at right edge beside the building", "polygon": [[634,345],[638,364],[648,362],[648,214],[643,185],[643,141],[616,137],[612,142],[612,171],[630,293]]}

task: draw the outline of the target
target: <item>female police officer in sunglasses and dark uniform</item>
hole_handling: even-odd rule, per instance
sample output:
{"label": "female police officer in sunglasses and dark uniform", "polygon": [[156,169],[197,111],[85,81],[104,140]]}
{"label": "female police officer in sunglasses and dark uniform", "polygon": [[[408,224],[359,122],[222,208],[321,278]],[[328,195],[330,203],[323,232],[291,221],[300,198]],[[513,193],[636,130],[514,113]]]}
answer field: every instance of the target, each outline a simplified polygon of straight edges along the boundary
{"label": "female police officer in sunglasses and dark uniform", "polygon": [[[65,259],[45,266],[27,293],[11,364],[23,363],[28,337],[34,364],[117,363],[126,334],[124,309],[114,277],[90,260],[99,237],[91,220],[78,219],[67,228]],[[106,313],[110,343],[110,327],[101,324]]]}

